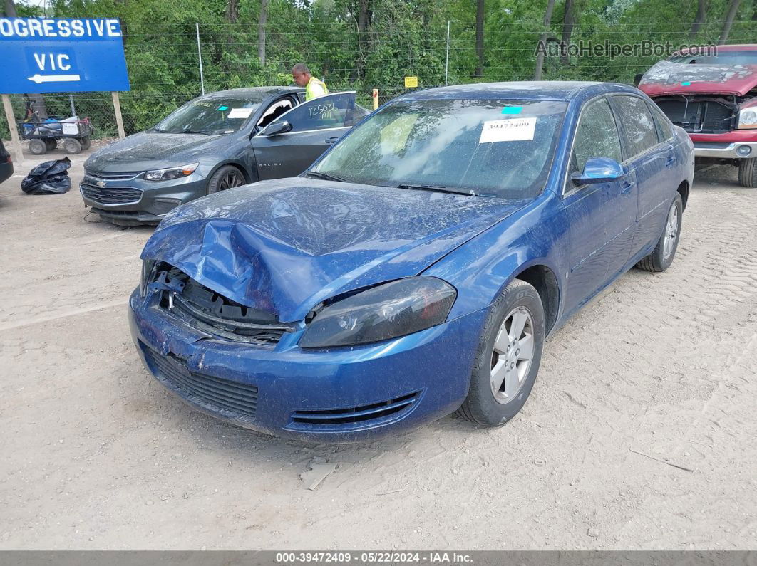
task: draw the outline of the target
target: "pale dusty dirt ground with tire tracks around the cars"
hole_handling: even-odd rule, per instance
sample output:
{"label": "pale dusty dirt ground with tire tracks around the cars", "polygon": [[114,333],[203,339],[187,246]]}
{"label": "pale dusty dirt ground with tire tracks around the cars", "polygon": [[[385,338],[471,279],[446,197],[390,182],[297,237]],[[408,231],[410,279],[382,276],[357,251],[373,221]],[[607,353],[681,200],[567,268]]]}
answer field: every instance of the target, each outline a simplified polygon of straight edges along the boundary
{"label": "pale dusty dirt ground with tire tracks around the cars", "polygon": [[757,549],[757,190],[734,169],[699,172],[669,271],[549,340],[506,426],[334,446],[154,382],[126,324],[152,230],[89,222],[85,157],[63,196],[21,193],[32,161],[0,185],[0,549]]}

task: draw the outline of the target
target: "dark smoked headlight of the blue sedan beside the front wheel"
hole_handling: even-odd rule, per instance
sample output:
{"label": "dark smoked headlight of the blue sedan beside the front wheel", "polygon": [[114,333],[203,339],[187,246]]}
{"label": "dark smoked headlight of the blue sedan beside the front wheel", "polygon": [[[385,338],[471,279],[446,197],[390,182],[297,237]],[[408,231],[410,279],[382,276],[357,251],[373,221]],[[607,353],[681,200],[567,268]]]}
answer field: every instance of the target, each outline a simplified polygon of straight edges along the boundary
{"label": "dark smoked headlight of the blue sedan beside the front wheel", "polygon": [[456,289],[435,277],[408,277],[338,299],[316,312],[301,348],[380,342],[447,320]]}

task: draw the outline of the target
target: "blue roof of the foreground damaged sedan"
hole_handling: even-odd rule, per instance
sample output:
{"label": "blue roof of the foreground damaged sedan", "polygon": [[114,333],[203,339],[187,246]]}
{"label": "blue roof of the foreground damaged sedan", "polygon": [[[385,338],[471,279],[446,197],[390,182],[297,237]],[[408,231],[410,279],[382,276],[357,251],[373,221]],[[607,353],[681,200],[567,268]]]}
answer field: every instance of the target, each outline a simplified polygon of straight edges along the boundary
{"label": "blue roof of the foreground damaged sedan", "polygon": [[616,82],[588,81],[521,81],[483,82],[428,88],[397,97],[396,100],[429,100],[434,98],[496,98],[568,101],[578,95],[603,92],[638,92],[636,88]]}

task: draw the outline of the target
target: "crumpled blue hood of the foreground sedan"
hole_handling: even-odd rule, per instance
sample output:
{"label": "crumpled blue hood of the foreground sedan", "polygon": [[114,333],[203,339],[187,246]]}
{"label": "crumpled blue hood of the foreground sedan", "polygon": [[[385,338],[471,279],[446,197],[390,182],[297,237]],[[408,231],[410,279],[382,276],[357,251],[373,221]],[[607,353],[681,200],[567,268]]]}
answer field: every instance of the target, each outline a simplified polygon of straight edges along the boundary
{"label": "crumpled blue hood of the foreground sedan", "polygon": [[179,207],[142,258],[293,322],[341,292],[419,274],[527,202],[310,178],[262,181]]}

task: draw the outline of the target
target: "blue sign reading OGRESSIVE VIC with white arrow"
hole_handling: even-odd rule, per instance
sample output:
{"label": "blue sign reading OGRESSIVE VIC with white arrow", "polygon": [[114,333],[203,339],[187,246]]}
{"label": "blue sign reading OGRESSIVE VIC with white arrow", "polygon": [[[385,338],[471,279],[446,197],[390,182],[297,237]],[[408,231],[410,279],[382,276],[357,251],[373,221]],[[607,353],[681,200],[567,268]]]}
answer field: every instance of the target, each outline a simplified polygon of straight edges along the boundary
{"label": "blue sign reading OGRESSIVE VIC with white arrow", "polygon": [[117,18],[0,17],[0,93],[128,90]]}

